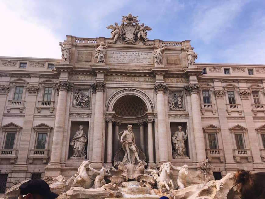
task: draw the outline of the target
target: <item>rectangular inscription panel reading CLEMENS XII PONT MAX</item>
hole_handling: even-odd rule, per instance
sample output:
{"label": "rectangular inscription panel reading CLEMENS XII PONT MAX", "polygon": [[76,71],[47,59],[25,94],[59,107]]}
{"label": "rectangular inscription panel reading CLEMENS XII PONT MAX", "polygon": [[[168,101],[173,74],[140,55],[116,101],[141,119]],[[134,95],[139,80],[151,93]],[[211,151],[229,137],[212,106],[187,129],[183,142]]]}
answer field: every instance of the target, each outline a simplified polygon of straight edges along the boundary
{"label": "rectangular inscription panel reading CLEMENS XII PONT MAX", "polygon": [[107,63],[153,64],[153,52],[107,51]]}

